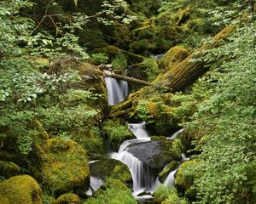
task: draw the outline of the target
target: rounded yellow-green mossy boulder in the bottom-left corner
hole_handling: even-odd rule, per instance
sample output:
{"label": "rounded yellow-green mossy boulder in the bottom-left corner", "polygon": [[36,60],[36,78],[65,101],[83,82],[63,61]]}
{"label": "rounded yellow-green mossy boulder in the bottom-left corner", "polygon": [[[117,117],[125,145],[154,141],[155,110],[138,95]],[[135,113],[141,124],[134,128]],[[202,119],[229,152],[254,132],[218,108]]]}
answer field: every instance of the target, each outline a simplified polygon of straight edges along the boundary
{"label": "rounded yellow-green mossy boulder in the bottom-left corner", "polygon": [[0,183],[1,204],[41,204],[42,190],[28,175],[15,176]]}

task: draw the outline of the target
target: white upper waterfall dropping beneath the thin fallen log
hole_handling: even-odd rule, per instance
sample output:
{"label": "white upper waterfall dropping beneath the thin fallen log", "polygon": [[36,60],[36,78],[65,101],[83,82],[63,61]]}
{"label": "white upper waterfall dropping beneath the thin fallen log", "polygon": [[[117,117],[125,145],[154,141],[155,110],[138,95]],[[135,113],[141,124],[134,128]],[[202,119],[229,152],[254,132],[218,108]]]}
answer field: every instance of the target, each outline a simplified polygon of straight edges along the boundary
{"label": "white upper waterfall dropping beneath the thin fallen log", "polygon": [[[124,75],[126,71],[124,72]],[[108,104],[116,105],[125,100],[125,96],[129,94],[128,82],[118,81],[112,77],[105,77],[105,82],[108,90]]]}

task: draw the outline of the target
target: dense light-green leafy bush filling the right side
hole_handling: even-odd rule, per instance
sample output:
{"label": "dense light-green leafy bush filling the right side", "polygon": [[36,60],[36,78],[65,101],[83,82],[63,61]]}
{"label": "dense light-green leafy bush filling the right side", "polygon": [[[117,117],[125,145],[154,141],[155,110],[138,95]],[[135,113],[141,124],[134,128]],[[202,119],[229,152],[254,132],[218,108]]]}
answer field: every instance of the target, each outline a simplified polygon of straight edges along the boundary
{"label": "dense light-green leafy bush filling the right side", "polygon": [[202,162],[194,171],[203,174],[195,179],[195,203],[255,199],[255,29],[255,22],[241,26],[230,43],[203,58],[224,60],[205,78],[210,96],[186,124],[201,139]]}

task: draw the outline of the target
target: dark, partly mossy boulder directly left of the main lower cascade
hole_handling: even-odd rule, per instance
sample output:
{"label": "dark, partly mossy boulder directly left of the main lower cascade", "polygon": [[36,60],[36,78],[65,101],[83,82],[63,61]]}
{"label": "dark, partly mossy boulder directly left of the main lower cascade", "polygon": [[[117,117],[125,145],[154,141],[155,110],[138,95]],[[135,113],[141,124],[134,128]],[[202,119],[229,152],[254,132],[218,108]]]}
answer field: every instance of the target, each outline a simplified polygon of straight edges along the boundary
{"label": "dark, partly mossy boulder directly left of the main lower cascade", "polygon": [[121,161],[102,158],[90,164],[90,173],[97,178],[115,178],[124,184],[131,184],[131,173],[129,168]]}

